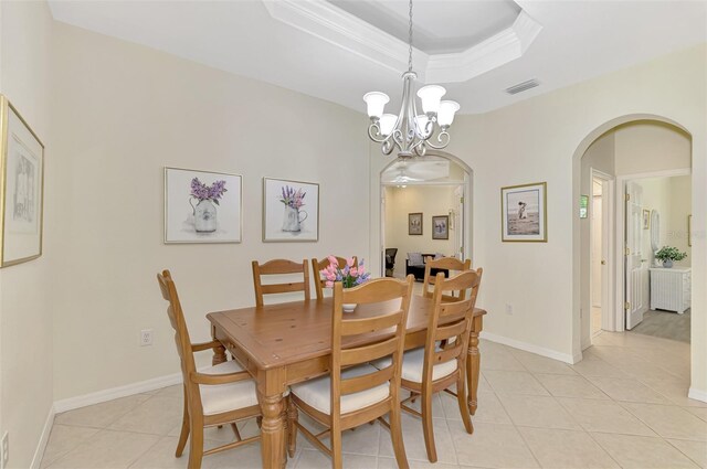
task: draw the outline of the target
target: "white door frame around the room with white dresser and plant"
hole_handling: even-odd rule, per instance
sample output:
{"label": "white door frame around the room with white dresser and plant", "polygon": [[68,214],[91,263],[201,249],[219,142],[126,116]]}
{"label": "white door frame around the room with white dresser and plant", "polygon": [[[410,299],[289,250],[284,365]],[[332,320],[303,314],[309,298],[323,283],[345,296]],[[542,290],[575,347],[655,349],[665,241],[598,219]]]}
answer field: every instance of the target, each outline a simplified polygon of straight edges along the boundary
{"label": "white door frame around the room with white dresser and plant", "polygon": [[[634,174],[623,174],[616,177],[616,190],[621,191],[622,194],[626,192],[626,182],[636,181],[646,178],[672,178],[676,175],[690,175],[693,173],[692,168],[679,168],[679,169],[669,169],[662,171],[651,171],[651,172],[640,172]],[[616,255],[614,257],[614,289],[616,294],[616,303],[615,311],[621,312],[616,315],[615,326],[616,331],[622,332],[626,330],[626,313],[623,309],[623,306],[626,301],[626,289],[623,285],[623,278],[625,276],[625,266],[624,266],[624,256],[625,256],[625,235],[626,235],[626,204],[624,203],[624,198],[615,199],[615,236],[614,243],[615,246],[621,246],[621,249],[616,249]]]}

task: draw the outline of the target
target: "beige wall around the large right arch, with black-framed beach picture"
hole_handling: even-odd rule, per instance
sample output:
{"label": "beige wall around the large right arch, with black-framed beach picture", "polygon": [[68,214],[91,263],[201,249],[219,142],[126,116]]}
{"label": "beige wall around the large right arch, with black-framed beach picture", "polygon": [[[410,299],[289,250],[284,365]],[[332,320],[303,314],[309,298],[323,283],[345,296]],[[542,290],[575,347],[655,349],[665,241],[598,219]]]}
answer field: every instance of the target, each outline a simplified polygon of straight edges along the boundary
{"label": "beige wall around the large right arch, with black-framed beach picture", "polygon": [[[707,213],[707,121],[705,45],[526,99],[481,116],[461,116],[447,151],[475,174],[474,264],[484,267],[479,306],[485,330],[553,356],[580,356],[580,239],[576,215],[581,156],[619,124],[663,116],[693,136],[693,258],[704,259]],[[455,130],[456,129],[456,130]],[[513,138],[508,138],[508,135]],[[371,211],[379,220],[377,180],[389,159],[371,146]],[[499,189],[547,181],[548,243],[502,243]],[[377,225],[371,227],[377,233]],[[376,236],[371,236],[376,249]],[[695,285],[707,281],[704,260],[693,263]],[[515,307],[505,315],[505,305]],[[707,297],[693,292],[693,377],[707,392]]]}

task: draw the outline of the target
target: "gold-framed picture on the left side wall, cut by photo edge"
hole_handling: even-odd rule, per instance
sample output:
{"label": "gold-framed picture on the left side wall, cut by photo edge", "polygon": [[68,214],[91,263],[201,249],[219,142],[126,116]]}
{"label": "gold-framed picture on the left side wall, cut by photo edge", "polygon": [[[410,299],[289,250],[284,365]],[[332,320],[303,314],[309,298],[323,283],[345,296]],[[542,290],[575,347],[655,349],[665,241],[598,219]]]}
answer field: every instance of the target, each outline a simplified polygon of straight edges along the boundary
{"label": "gold-framed picture on the left side wall, cut by photo edge", "polygon": [[0,266],[42,255],[44,145],[0,95]]}

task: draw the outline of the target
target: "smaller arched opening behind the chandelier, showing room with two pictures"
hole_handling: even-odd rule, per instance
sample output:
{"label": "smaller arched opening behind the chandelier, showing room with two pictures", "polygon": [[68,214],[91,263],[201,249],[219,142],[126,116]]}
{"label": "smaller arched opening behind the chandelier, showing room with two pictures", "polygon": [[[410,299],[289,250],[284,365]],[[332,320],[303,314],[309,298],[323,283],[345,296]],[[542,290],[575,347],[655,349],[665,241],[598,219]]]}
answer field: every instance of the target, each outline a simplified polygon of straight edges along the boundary
{"label": "smaller arched opening behind the chandelier, showing room with two pictures", "polygon": [[472,257],[472,169],[443,151],[381,170],[381,273],[404,277],[408,253]]}

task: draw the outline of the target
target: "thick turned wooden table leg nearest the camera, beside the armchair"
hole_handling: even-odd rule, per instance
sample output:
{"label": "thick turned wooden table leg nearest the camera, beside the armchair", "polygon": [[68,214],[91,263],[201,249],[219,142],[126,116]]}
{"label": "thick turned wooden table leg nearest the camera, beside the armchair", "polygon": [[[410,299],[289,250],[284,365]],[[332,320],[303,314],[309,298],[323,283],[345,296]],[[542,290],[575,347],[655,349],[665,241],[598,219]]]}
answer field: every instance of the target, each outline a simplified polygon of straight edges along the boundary
{"label": "thick turned wooden table leg nearest the camera, beside the armchair", "polygon": [[263,467],[265,469],[284,468],[286,459],[283,395],[266,396],[258,391],[257,398],[263,413],[263,424],[261,426]]}

